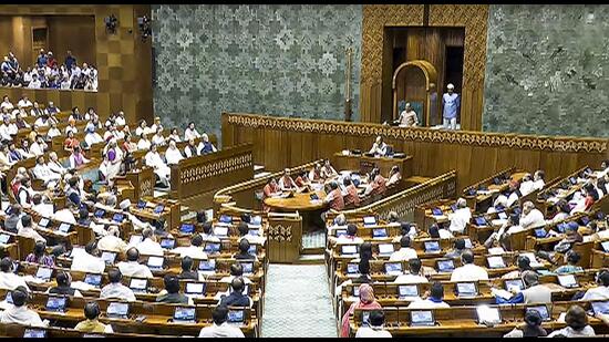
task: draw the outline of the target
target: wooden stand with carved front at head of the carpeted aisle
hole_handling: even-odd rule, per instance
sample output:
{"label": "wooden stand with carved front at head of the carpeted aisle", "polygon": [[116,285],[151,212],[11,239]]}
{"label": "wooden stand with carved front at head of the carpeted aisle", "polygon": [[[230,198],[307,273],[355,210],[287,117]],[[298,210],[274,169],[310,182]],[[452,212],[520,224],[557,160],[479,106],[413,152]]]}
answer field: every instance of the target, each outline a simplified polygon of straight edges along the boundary
{"label": "wooden stand with carved front at head of the carpeted aisle", "polygon": [[267,232],[269,262],[292,263],[300,258],[302,217],[296,213],[269,213]]}

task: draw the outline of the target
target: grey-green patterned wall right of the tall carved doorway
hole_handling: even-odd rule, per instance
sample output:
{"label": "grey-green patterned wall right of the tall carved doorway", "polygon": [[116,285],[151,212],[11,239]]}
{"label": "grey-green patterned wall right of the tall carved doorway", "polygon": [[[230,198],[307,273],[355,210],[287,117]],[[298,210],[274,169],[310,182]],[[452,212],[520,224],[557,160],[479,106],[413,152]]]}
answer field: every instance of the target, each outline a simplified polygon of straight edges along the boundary
{"label": "grey-green patterned wall right of the tall carved doorway", "polygon": [[484,131],[609,137],[609,8],[493,4]]}

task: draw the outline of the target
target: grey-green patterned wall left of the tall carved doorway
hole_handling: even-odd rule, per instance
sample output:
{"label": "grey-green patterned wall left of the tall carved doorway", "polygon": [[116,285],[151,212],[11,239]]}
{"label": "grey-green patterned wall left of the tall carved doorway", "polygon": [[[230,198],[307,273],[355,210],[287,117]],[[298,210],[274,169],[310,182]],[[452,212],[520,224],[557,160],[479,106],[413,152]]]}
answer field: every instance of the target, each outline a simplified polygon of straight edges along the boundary
{"label": "grey-green patterned wall left of the tall carved doorway", "polygon": [[361,6],[153,6],[155,113],[220,135],[224,111],[340,120],[345,48],[358,117]]}

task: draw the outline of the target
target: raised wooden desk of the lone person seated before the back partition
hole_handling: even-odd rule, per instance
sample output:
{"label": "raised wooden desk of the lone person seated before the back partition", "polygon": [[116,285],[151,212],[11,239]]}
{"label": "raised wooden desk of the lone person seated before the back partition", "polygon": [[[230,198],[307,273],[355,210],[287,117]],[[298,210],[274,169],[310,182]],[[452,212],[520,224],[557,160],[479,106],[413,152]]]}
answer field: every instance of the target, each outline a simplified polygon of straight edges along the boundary
{"label": "raised wooden desk of the lone person seated before the back partition", "polygon": [[333,166],[339,169],[352,169],[359,170],[365,174],[374,166],[379,167],[383,177],[389,177],[389,173],[393,166],[400,167],[402,179],[412,176],[412,156],[405,156],[404,158],[390,158],[390,157],[369,157],[362,155],[343,155],[342,152],[334,153]]}

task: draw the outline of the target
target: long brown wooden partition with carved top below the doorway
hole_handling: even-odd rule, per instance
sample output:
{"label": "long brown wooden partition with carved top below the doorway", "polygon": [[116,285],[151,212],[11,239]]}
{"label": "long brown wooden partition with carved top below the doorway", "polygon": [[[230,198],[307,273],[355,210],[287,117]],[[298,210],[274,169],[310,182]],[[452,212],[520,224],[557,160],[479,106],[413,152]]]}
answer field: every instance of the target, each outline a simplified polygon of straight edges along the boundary
{"label": "long brown wooden partition with carved top below the doorway", "polygon": [[[414,158],[413,174],[437,176],[455,169],[457,191],[502,169],[544,169],[546,178],[609,158],[608,139],[525,136],[478,132],[399,128],[380,124],[223,114],[223,146],[255,146],[255,163],[268,170],[331,157],[342,149],[368,151],[382,135]],[[299,149],[303,149],[298,152]]]}

